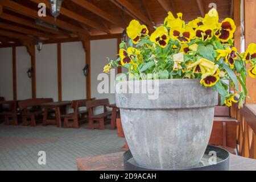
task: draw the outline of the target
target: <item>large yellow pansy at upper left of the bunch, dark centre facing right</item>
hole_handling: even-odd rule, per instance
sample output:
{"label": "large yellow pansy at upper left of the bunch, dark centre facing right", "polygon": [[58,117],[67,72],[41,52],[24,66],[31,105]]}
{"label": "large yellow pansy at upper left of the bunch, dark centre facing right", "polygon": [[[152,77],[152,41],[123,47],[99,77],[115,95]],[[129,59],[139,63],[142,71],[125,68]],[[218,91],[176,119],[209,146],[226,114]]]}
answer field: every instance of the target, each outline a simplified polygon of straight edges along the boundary
{"label": "large yellow pansy at upper left of the bunch, dark centre facing right", "polygon": [[148,29],[144,24],[140,24],[138,20],[131,20],[129,26],[126,28],[127,35],[134,44],[137,44],[143,36],[148,35]]}

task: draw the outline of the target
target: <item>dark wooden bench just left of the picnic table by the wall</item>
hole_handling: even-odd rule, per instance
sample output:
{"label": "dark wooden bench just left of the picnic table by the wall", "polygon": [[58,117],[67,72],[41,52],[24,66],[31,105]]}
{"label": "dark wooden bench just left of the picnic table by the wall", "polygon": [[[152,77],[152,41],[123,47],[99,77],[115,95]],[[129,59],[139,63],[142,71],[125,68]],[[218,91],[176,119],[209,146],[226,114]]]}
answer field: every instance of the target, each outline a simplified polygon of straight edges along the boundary
{"label": "dark wooden bench just left of the picnic table by the wall", "polygon": [[40,104],[53,102],[52,98],[31,98],[23,101],[19,101],[19,109],[22,111],[22,125],[28,125],[28,119],[30,126],[36,126],[36,117],[42,116],[42,109]]}

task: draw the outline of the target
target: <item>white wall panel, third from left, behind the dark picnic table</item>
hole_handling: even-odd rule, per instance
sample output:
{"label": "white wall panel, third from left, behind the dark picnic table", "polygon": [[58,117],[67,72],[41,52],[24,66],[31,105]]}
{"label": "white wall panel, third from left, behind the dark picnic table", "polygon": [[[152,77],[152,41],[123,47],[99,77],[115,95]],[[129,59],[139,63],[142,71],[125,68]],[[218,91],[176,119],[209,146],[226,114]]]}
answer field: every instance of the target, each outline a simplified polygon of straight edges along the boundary
{"label": "white wall panel, third from left, behind the dark picnic table", "polygon": [[44,44],[36,49],[36,97],[58,100],[57,44]]}

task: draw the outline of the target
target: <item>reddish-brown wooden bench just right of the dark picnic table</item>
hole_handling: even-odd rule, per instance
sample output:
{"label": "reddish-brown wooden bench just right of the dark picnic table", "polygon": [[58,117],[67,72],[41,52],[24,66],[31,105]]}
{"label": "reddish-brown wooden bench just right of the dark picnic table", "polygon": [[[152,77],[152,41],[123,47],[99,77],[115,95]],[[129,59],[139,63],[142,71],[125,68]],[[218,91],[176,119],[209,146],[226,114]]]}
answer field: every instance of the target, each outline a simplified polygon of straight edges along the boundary
{"label": "reddish-brown wooden bench just right of the dark picnic table", "polygon": [[[86,119],[88,119],[88,111],[87,110],[79,110],[80,107],[86,107],[86,101],[95,100],[95,98],[90,98],[89,100],[74,100],[71,103],[71,108],[74,110],[73,113],[63,114],[60,117],[64,119],[63,127],[73,127],[79,128],[79,124],[85,123]],[[81,116],[81,117],[80,117]],[[73,122],[70,123],[69,121]]]}

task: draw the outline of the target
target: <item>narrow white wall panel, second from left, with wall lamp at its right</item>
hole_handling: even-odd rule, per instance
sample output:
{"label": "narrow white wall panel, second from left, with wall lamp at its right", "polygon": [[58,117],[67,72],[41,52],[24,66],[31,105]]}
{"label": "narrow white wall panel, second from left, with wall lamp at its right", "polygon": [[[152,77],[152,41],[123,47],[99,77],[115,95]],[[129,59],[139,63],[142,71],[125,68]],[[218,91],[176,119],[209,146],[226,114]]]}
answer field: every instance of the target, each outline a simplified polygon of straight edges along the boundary
{"label": "narrow white wall panel, second from left, with wall lamp at its right", "polygon": [[27,71],[31,68],[31,56],[26,47],[16,47],[17,100],[32,97],[31,78]]}

